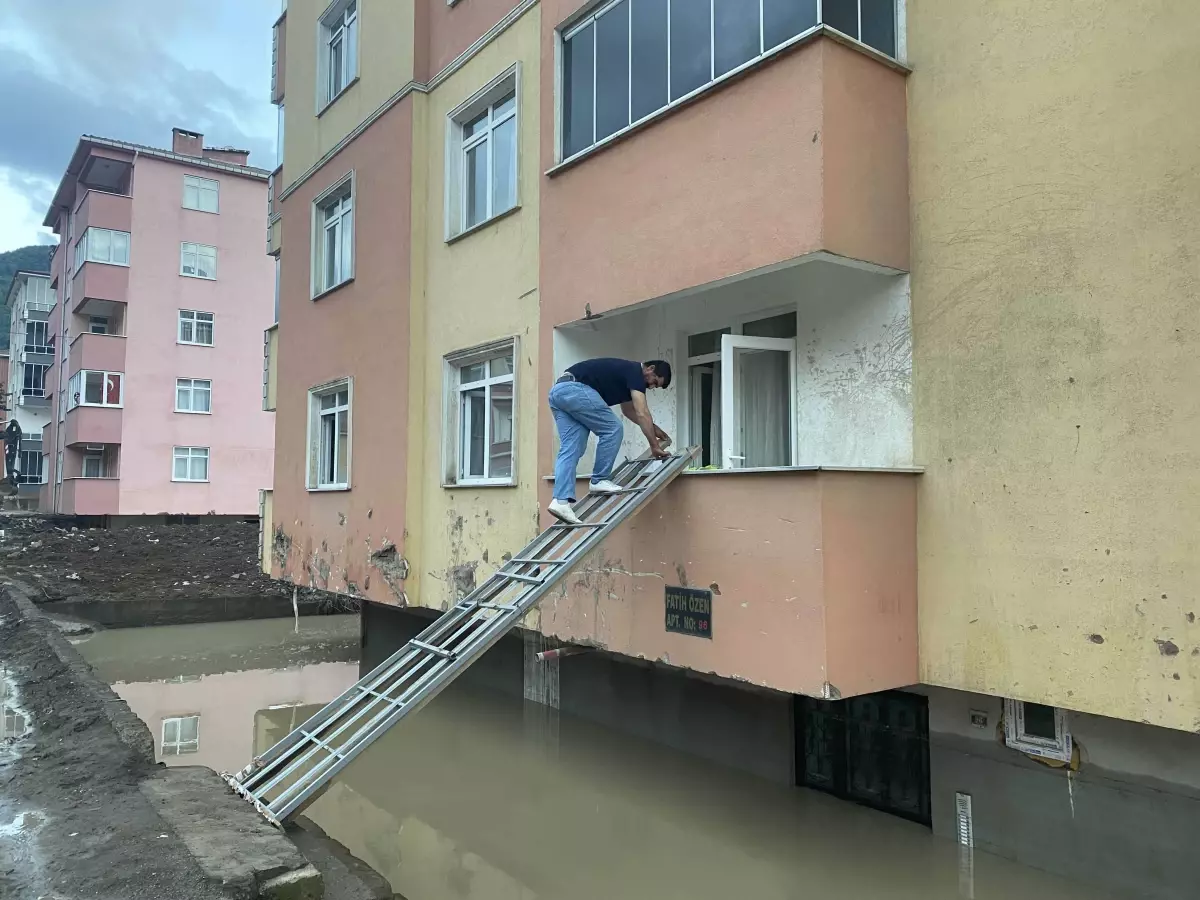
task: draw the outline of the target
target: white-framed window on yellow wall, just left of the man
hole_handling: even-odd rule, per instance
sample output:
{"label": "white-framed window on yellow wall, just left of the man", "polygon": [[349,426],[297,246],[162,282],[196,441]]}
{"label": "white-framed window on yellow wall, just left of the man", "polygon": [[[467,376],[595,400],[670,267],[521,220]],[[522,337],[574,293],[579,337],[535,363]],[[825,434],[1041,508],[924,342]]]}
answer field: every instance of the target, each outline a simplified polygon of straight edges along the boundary
{"label": "white-framed window on yellow wall, just left of the man", "polygon": [[516,338],[446,356],[446,485],[514,485]]}

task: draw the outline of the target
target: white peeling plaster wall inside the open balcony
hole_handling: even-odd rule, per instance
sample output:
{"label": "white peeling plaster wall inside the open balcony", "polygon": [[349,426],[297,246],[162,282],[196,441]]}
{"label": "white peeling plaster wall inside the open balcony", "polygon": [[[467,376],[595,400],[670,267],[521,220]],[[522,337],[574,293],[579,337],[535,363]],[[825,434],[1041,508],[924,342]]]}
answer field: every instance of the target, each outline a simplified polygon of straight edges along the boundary
{"label": "white peeling plaster wall inside the open balcony", "polygon": [[[654,421],[688,443],[688,335],[797,312],[800,466],[912,466],[912,322],[907,276],[824,260],[748,277],[554,331],[554,371],[593,356],[665,359],[667,390],[647,397]],[[646,450],[625,420],[622,454]],[[556,439],[557,446],[557,439]],[[592,470],[595,439],[580,464]]]}

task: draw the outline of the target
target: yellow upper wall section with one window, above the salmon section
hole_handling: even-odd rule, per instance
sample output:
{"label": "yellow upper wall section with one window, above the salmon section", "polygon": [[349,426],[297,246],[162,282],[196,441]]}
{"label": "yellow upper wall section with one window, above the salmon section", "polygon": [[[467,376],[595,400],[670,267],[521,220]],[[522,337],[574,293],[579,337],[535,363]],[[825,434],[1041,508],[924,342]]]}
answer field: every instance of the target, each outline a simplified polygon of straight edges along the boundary
{"label": "yellow upper wall section with one window, above the salmon section", "polygon": [[413,16],[418,1],[424,2],[359,0],[359,80],[317,115],[318,19],[329,2],[289,0],[283,48],[288,78],[283,188],[413,79]]}

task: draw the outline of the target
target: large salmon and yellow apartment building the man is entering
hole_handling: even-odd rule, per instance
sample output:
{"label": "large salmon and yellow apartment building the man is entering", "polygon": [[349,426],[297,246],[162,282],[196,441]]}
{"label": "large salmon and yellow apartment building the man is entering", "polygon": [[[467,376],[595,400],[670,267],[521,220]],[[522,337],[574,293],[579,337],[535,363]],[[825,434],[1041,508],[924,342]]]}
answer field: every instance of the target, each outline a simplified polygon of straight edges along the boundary
{"label": "large salmon and yellow apartment building the man is entering", "polygon": [[384,659],[548,523],[554,377],[667,359],[696,468],[488,682],[1190,896],[1200,22],[1135,7],[292,0],[264,566]]}

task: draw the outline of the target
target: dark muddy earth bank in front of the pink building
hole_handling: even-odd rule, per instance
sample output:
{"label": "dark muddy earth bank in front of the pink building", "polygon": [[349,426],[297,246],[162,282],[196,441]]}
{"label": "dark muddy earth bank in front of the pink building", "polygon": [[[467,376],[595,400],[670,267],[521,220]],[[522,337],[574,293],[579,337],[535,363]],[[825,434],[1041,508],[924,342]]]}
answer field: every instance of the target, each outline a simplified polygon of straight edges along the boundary
{"label": "dark muddy earth bank in front of the pink building", "polygon": [[290,596],[258,564],[258,524],[215,522],[79,529],[42,516],[0,516],[0,575],[35,600]]}

